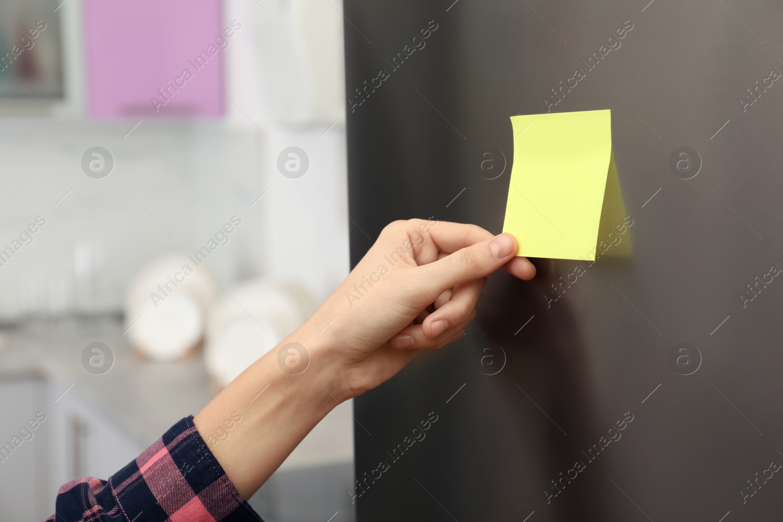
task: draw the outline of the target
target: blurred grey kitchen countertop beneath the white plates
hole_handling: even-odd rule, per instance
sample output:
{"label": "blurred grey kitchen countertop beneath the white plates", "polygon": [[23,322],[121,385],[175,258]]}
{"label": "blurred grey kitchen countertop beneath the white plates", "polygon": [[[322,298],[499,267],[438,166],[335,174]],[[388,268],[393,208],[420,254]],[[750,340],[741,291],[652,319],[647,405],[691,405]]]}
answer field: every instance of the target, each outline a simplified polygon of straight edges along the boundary
{"label": "blurred grey kitchen countertop beneath the white plates", "polygon": [[[93,375],[81,364],[82,351],[94,342],[114,353],[114,365],[103,375]],[[141,446],[150,445],[182,417],[195,415],[219,391],[200,351],[180,362],[146,361],[135,355],[118,329],[73,335],[2,333],[0,380],[35,377],[47,380],[55,398],[63,392],[77,395]],[[352,461],[352,405],[343,406],[312,430],[281,470]]]}

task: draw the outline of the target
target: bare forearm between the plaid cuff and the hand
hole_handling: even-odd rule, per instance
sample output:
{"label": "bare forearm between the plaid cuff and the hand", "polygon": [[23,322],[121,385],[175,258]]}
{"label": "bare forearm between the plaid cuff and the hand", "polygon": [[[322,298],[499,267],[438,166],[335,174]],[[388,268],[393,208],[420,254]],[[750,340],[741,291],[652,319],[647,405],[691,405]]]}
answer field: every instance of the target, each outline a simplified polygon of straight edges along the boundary
{"label": "bare forearm between the plaid cuff and the hand", "polygon": [[[327,355],[330,341],[312,335],[314,329],[309,324],[298,329],[254,362],[193,418],[201,437],[244,499],[249,499],[309,431],[347,398],[338,391],[338,363]],[[278,352],[290,342],[306,347],[306,369],[306,357],[298,366],[285,365],[285,357],[282,367],[279,364]],[[238,417],[235,412],[241,415],[240,422],[233,422]],[[230,430],[228,426],[232,426]],[[218,430],[224,440],[216,434]]]}

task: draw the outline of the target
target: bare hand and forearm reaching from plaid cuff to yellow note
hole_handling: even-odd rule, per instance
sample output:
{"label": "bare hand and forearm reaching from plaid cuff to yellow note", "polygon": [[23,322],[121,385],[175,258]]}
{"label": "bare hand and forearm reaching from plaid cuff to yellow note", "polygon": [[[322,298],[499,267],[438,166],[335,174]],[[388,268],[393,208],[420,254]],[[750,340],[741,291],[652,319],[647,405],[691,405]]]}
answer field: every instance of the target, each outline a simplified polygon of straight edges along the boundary
{"label": "bare hand and forearm reaching from plaid cuff to yellow note", "polygon": [[[516,253],[513,236],[475,225],[388,225],[303,326],[193,419],[240,495],[249,499],[334,406],[390,379],[421,349],[463,335],[487,275],[500,267],[536,275]],[[243,420],[230,438],[211,436],[234,418]]]}

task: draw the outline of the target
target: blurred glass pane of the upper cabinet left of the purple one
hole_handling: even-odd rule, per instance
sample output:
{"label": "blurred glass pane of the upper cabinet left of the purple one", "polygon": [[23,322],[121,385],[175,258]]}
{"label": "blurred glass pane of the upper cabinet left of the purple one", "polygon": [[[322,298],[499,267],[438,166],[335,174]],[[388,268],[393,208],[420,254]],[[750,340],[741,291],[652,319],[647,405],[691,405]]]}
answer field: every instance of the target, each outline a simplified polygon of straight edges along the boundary
{"label": "blurred glass pane of the upper cabinet left of the purple one", "polygon": [[63,97],[60,2],[0,2],[0,98]]}

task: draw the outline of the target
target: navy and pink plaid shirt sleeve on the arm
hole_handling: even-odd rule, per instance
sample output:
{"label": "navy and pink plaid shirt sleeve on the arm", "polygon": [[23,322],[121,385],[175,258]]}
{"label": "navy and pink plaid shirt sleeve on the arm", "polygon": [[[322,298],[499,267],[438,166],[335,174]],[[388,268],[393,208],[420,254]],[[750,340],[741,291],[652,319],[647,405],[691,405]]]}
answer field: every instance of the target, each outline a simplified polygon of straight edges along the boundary
{"label": "navy and pink plaid shirt sleeve on the arm", "polygon": [[204,444],[180,420],[109,481],[80,478],[57,494],[53,522],[261,521]]}

